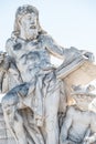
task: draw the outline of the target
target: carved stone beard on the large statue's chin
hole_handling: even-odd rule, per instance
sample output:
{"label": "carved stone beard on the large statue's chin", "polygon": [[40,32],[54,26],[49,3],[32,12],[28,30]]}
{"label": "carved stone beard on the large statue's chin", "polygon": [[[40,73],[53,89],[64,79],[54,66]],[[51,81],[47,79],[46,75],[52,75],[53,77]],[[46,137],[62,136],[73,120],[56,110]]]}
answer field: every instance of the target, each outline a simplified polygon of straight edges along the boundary
{"label": "carved stone beard on the large statue's chin", "polygon": [[30,29],[29,31],[25,32],[25,38],[26,38],[26,40],[36,39],[38,35],[39,35],[38,29]]}

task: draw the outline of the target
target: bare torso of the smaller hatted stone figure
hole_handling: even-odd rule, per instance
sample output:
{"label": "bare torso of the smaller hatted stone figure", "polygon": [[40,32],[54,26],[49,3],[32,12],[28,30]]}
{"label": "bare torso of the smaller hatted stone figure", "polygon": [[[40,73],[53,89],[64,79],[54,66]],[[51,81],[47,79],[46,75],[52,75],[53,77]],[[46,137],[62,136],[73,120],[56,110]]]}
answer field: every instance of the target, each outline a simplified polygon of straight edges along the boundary
{"label": "bare torso of the smaller hatted stone figure", "polygon": [[90,113],[73,110],[73,124],[68,132],[68,138],[73,142],[81,142],[88,128],[90,128]]}

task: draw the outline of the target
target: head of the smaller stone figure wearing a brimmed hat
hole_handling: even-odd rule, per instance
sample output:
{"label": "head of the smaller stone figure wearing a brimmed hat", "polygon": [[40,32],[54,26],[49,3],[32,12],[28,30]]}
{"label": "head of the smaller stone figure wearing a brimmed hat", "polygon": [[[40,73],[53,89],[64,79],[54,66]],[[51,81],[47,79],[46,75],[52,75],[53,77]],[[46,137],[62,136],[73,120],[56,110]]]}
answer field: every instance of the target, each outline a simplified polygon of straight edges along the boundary
{"label": "head of the smaller stone figure wearing a brimmed hat", "polygon": [[[89,109],[93,107],[94,99],[96,99],[96,95],[93,94],[95,86],[90,84],[86,88],[82,88],[82,85],[73,88],[72,99],[75,101],[75,103],[72,104],[76,105],[82,111],[88,111]],[[95,105],[96,105],[96,100],[95,100]],[[96,112],[96,107],[95,107],[95,112]]]}

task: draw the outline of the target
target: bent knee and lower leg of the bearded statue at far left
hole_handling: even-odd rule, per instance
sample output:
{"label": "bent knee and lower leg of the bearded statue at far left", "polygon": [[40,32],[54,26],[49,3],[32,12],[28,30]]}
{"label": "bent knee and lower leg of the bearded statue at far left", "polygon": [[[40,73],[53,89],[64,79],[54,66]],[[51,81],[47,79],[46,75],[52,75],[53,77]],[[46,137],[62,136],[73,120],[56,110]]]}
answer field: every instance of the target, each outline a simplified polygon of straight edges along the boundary
{"label": "bent knee and lower leg of the bearded statue at far left", "polygon": [[[10,96],[10,94],[12,96]],[[18,111],[18,103],[15,101],[15,96],[18,96],[17,93],[12,94],[12,92],[10,91],[10,93],[8,93],[2,99],[4,121],[12,136],[15,138],[17,144],[28,144],[23,126],[23,117]]]}

